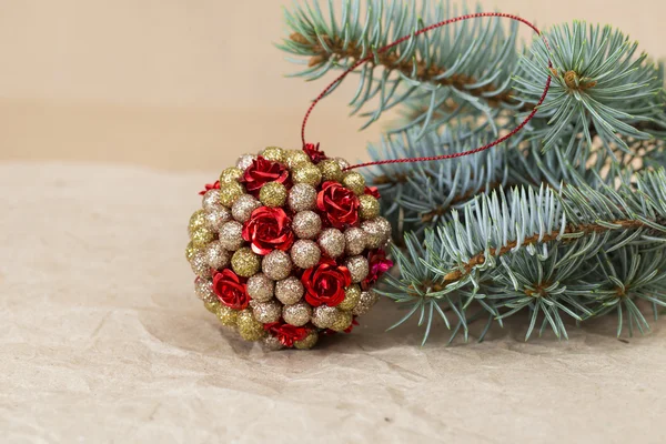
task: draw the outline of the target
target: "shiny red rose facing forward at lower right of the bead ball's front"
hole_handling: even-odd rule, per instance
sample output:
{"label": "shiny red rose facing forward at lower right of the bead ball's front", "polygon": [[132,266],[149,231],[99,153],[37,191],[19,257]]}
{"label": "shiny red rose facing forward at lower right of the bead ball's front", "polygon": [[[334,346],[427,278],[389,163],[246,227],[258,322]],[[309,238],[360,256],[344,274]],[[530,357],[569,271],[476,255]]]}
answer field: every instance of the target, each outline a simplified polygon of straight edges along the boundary
{"label": "shiny red rose facing forward at lower right of the bead ball's front", "polygon": [[312,306],[336,306],[344,300],[344,289],[352,284],[346,266],[337,265],[332,259],[322,259],[301,276],[305,286],[305,301]]}

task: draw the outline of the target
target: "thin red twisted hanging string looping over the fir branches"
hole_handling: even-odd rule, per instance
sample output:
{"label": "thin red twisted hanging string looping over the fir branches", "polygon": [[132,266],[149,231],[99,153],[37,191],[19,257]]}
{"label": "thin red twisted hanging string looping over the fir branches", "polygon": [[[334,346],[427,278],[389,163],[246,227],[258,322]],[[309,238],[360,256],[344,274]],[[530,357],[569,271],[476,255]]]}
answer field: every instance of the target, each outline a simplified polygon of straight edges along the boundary
{"label": "thin red twisted hanging string looping over the fir branches", "polygon": [[[461,16],[461,17],[456,17],[453,19],[444,20],[438,23],[431,24],[430,27],[420,29],[418,31],[416,31],[410,36],[405,36],[405,37],[394,41],[393,43],[390,43],[383,48],[380,48],[379,50],[376,50],[376,53],[381,54],[383,52],[386,52],[390,49],[398,46],[400,43],[403,43],[412,38],[421,36],[425,32],[432,31],[433,29],[445,27],[447,24],[455,23],[455,22],[463,21],[463,20],[478,19],[478,18],[483,18],[483,17],[500,17],[500,18],[506,18],[506,19],[519,21],[521,23],[524,23],[524,24],[528,26],[529,28],[532,28],[534,30],[534,32],[536,32],[542,38],[542,40],[546,44],[546,48],[548,48],[548,50],[551,49],[545,36],[542,34],[542,32],[534,24],[532,24],[531,22],[528,22],[527,20],[525,20],[518,16],[513,16],[513,14],[502,13],[502,12],[476,12],[476,13],[472,13],[472,14],[466,14],[466,16]],[[301,125],[301,141],[303,143],[303,150],[319,151],[319,144],[314,145],[312,143],[305,142],[305,127],[307,125],[307,119],[310,119],[310,114],[312,113],[312,110],[314,109],[314,107],[316,107],[316,104],[329,93],[329,91],[331,91],[333,89],[333,87],[335,87],[339,82],[341,82],[350,72],[352,72],[353,70],[359,68],[361,64],[373,60],[374,57],[375,57],[375,53],[371,53],[370,56],[357,60],[354,64],[352,64],[350,68],[347,68],[342,74],[340,74],[334,81],[332,81],[326,88],[324,88],[324,90],[316,97],[316,99],[314,99],[314,101],[307,109],[307,112],[305,113],[305,117],[303,118],[303,124]],[[549,59],[548,59],[548,68],[553,68],[553,62]],[[462,152],[452,153],[452,154],[433,155],[430,158],[387,159],[387,160],[381,160],[381,161],[376,161],[376,162],[360,163],[357,165],[347,167],[344,169],[344,171],[353,170],[355,168],[362,168],[362,167],[382,165],[382,164],[386,164],[386,163],[427,162],[427,161],[435,161],[435,160],[462,158],[464,155],[475,154],[477,152],[485,151],[495,145],[498,145],[500,143],[505,142],[506,140],[508,140],[509,138],[515,135],[517,132],[519,132],[527,124],[527,122],[529,122],[532,120],[532,118],[534,118],[534,115],[538,111],[538,107],[544,102],[544,100],[546,100],[548,89],[551,88],[551,81],[552,81],[552,77],[548,74],[548,78],[546,80],[546,85],[544,88],[544,92],[543,92],[541,99],[538,100],[538,102],[536,103],[536,107],[532,110],[532,112],[527,115],[527,118],[525,118],[525,120],[523,120],[523,122],[521,122],[521,124],[518,124],[515,129],[513,129],[508,134],[501,137],[500,139],[491,142],[488,144],[475,148],[473,150],[462,151]]]}

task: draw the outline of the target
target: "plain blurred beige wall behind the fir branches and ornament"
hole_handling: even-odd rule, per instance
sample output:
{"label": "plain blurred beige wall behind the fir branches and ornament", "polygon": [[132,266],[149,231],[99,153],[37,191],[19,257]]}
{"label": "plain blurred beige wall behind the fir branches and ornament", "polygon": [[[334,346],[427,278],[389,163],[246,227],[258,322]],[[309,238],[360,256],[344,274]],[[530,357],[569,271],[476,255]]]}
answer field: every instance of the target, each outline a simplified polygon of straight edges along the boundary
{"label": "plain blurred beige wall behind the fir branches and ornament", "polygon": [[[295,68],[272,46],[284,36],[284,4],[0,0],[0,159],[210,169],[264,145],[297,147],[309,100],[325,82],[283,77]],[[541,27],[612,23],[666,56],[659,0],[482,4]],[[353,159],[381,127],[356,131],[361,122],[346,118],[351,95],[339,90],[319,107],[310,134]]]}

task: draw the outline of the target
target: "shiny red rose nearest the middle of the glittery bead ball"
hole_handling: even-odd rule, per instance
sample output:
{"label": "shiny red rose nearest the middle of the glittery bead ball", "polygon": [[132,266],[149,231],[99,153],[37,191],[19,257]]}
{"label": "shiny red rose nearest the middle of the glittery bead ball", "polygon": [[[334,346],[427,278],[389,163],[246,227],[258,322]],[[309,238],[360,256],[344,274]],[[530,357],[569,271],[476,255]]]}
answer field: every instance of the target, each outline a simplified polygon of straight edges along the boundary
{"label": "shiny red rose nearest the middle of the glittery bead ball", "polygon": [[291,219],[282,209],[260,206],[243,225],[243,239],[262,256],[273,250],[287,251],[294,243]]}

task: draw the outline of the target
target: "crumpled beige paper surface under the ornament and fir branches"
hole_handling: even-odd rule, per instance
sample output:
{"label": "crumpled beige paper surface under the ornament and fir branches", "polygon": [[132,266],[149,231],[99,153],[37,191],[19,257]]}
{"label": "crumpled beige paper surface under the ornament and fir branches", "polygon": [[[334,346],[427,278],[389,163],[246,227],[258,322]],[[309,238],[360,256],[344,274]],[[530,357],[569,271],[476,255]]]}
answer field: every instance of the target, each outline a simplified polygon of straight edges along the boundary
{"label": "crumpled beige paper surface under the ornament and fir branches", "polygon": [[666,319],[452,346],[437,325],[421,347],[382,301],[311,352],[244,343],[184,260],[214,176],[0,163],[2,442],[666,442]]}

